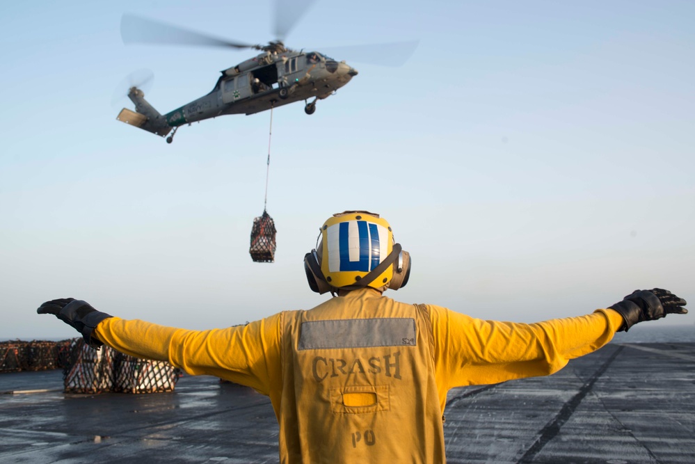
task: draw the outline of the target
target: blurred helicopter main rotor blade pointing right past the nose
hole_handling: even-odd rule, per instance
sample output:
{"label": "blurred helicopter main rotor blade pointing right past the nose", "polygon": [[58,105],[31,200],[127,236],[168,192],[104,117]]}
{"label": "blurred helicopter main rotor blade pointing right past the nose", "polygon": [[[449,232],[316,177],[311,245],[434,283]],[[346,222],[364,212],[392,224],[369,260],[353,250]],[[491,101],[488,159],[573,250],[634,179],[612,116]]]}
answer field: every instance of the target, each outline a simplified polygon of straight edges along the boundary
{"label": "blurred helicopter main rotor blade pointing right past the nose", "polygon": [[348,45],[346,47],[317,48],[322,54],[334,57],[338,61],[356,61],[370,65],[398,67],[413,56],[419,40],[408,42],[391,42],[372,45]]}

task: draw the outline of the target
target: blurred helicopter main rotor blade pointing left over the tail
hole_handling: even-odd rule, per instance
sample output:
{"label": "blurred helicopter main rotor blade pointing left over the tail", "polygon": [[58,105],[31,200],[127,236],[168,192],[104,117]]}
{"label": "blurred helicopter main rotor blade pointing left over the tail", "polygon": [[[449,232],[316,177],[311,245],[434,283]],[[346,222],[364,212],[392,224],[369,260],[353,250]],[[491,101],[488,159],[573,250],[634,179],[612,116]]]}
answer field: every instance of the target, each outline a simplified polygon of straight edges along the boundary
{"label": "blurred helicopter main rotor blade pointing left over the tail", "polygon": [[179,26],[157,22],[135,15],[123,15],[120,20],[120,36],[125,44],[142,43],[260,49],[258,45],[231,42],[230,40],[189,31]]}

